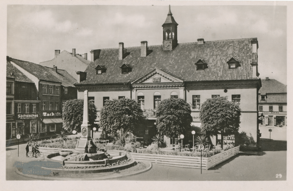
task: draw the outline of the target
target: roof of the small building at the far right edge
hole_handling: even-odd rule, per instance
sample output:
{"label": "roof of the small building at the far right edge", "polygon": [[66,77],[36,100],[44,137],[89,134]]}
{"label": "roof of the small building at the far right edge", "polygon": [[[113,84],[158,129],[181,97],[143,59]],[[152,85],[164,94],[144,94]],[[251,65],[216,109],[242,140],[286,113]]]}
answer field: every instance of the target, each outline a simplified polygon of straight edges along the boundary
{"label": "roof of the small building at the far right edge", "polygon": [[285,93],[287,92],[287,85],[284,85],[274,79],[262,79],[261,80],[262,87],[259,89],[261,95],[265,95],[266,93]]}

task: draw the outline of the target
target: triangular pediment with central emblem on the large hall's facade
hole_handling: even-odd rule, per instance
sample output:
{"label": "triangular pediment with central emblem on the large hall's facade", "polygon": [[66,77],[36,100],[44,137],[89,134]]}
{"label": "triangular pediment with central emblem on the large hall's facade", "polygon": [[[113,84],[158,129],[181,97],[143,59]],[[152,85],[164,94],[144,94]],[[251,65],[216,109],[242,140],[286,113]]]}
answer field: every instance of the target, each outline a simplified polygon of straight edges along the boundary
{"label": "triangular pediment with central emblem on the large hall's facade", "polygon": [[146,75],[140,77],[139,79],[133,81],[131,84],[139,84],[139,83],[174,83],[180,82],[183,83],[183,80],[175,77],[174,75],[161,70],[159,68],[155,68]]}

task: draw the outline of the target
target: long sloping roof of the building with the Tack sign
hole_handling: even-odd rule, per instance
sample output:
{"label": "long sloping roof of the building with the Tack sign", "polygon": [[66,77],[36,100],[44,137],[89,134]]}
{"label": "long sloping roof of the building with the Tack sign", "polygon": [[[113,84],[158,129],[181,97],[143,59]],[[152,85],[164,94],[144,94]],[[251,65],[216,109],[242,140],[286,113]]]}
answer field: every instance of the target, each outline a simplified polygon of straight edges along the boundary
{"label": "long sloping roof of the building with the Tack sign", "polygon": [[9,61],[19,65],[21,68],[37,77],[39,80],[61,82],[42,65],[30,63],[27,61],[21,61],[13,58],[9,58]]}

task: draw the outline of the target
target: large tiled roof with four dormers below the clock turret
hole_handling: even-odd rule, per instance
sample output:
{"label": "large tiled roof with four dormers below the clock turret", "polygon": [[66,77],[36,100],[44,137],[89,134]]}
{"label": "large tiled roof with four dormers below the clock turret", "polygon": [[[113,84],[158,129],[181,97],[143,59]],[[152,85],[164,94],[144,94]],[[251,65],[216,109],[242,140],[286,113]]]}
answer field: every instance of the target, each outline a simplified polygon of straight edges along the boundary
{"label": "large tiled roof with four dormers below the clock turret", "polygon": [[[183,79],[191,81],[228,81],[228,80],[253,80],[252,62],[257,62],[256,53],[252,53],[252,39],[236,39],[223,41],[210,41],[204,44],[197,42],[178,44],[171,51],[164,51],[162,45],[148,46],[149,54],[141,57],[141,48],[127,47],[123,60],[118,60],[118,48],[101,49],[97,60],[86,68],[86,80],[80,85],[94,84],[120,84],[130,83],[147,74],[155,67]],[[241,62],[238,68],[229,69],[227,61],[234,58]],[[196,70],[195,63],[205,60],[209,68]],[[97,65],[107,68],[103,74],[96,74]],[[132,71],[121,73],[121,66],[129,64]]]}

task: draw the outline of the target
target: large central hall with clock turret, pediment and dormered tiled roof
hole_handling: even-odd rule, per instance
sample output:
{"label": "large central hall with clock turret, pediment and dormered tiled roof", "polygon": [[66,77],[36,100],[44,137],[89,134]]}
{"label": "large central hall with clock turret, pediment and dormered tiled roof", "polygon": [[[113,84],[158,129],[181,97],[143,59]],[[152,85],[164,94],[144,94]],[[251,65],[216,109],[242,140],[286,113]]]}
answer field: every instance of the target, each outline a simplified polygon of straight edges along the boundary
{"label": "large central hall with clock turret, pediment and dormered tiled roof", "polygon": [[92,50],[92,62],[85,72],[78,72],[78,98],[88,90],[99,113],[107,100],[137,100],[148,119],[139,136],[151,140],[157,133],[154,110],[163,99],[186,100],[193,106],[192,124],[200,126],[201,104],[214,96],[227,96],[242,110],[239,131],[259,140],[257,39],[178,43],[177,25],[169,11],[161,45],[148,46],[143,41],[140,47],[125,49],[120,42],[119,48]]}

